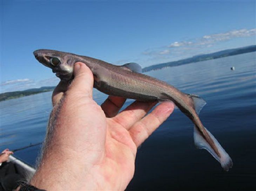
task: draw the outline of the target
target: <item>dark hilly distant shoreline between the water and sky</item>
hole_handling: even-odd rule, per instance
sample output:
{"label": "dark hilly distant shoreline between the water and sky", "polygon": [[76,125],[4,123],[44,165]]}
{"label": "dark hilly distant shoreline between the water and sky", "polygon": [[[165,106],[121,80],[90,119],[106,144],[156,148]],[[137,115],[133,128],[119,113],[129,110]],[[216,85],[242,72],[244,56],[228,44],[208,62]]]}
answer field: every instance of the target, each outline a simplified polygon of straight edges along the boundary
{"label": "dark hilly distant shoreline between the water and sky", "polygon": [[[256,45],[241,47],[241,48],[237,48],[237,49],[228,49],[228,50],[223,50],[223,51],[214,52],[214,53],[210,53],[210,54],[193,56],[191,58],[187,58],[187,59],[183,59],[183,60],[148,66],[148,67],[143,68],[142,72],[149,72],[152,70],[158,70],[158,69],[162,69],[165,67],[180,66],[180,65],[184,65],[184,64],[196,63],[196,62],[200,62],[200,61],[212,60],[212,59],[223,58],[223,57],[228,57],[228,56],[235,56],[238,54],[255,52],[255,51],[256,51]],[[43,93],[43,92],[47,92],[47,91],[52,91],[52,90],[54,90],[54,88],[55,88],[55,86],[49,86],[49,87],[27,89],[27,90],[23,90],[23,91],[5,92],[5,93],[0,94],[0,101],[11,100],[11,99],[19,98],[19,97],[24,97],[24,96],[29,96],[29,95],[33,95],[33,94],[39,94],[39,93]]]}

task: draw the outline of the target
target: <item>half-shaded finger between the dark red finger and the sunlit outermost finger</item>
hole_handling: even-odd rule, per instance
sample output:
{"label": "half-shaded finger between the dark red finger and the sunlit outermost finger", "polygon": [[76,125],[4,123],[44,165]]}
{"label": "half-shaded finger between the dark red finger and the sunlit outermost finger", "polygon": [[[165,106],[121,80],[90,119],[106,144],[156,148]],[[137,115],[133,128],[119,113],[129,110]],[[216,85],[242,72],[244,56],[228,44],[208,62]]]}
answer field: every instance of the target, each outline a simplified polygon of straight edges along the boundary
{"label": "half-shaded finger between the dark red finger and the sunlit outermost finger", "polygon": [[156,103],[135,101],[111,119],[128,130],[133,124],[144,117]]}

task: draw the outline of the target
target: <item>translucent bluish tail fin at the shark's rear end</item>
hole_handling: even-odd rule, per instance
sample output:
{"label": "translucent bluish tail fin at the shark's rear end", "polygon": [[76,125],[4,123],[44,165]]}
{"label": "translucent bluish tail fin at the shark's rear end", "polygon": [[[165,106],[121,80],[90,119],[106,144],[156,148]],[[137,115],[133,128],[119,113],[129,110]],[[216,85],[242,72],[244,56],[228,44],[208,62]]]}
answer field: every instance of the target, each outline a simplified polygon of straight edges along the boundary
{"label": "translucent bluish tail fin at the shark's rear end", "polygon": [[[206,128],[205,128],[206,129]],[[222,148],[220,143],[215,139],[215,137],[206,129],[207,133],[209,134],[210,138],[213,140],[214,144],[216,145],[220,156],[214,151],[214,149],[208,144],[208,142],[203,138],[201,132],[198,130],[196,126],[194,126],[194,143],[195,146],[199,149],[206,149],[213,157],[221,163],[221,167],[228,171],[229,168],[232,168],[233,162],[227,152]]]}

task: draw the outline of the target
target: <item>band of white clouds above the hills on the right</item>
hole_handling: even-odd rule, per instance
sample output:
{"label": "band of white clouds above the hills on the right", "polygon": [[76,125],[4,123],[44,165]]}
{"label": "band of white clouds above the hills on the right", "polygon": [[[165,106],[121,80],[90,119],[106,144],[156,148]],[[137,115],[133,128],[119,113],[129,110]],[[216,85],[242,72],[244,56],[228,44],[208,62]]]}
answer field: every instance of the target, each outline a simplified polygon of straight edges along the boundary
{"label": "band of white clouds above the hills on the right", "polygon": [[[206,34],[200,38],[187,41],[175,41],[169,45],[150,48],[142,52],[146,57],[144,61],[147,65],[188,58],[197,54],[222,50],[217,45],[221,42],[230,41],[236,38],[246,38],[256,35],[256,29],[236,29],[217,34]],[[251,44],[255,44],[255,41]],[[232,48],[232,47],[230,47]],[[142,61],[143,63],[143,61]]]}

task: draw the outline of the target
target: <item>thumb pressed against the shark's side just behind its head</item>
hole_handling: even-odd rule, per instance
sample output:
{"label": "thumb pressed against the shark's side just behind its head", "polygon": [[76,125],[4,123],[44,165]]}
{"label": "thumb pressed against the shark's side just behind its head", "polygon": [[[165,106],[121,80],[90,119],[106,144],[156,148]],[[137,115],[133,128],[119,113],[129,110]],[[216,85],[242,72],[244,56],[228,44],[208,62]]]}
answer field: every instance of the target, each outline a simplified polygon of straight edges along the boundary
{"label": "thumb pressed against the shark's side just behind its head", "polygon": [[85,63],[75,63],[74,66],[74,80],[69,86],[68,93],[78,93],[83,96],[93,97],[93,73],[86,66]]}

